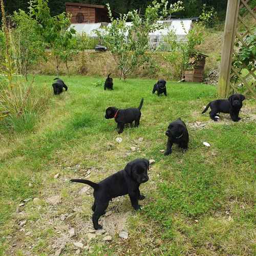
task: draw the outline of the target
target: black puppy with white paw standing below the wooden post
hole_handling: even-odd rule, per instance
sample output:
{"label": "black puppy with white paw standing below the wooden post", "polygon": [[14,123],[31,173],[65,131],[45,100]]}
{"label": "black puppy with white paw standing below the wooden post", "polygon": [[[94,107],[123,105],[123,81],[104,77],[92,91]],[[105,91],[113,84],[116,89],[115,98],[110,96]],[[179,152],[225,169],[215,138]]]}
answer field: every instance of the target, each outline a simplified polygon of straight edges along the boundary
{"label": "black puppy with white paw standing below the wooden post", "polygon": [[245,96],[242,94],[233,94],[228,99],[213,100],[208,103],[202,114],[205,113],[210,107],[211,111],[209,115],[212,120],[218,121],[218,119],[220,118],[218,113],[229,113],[231,119],[234,122],[238,122],[239,120],[241,120],[238,115],[240,109],[243,106],[243,100],[245,100]]}

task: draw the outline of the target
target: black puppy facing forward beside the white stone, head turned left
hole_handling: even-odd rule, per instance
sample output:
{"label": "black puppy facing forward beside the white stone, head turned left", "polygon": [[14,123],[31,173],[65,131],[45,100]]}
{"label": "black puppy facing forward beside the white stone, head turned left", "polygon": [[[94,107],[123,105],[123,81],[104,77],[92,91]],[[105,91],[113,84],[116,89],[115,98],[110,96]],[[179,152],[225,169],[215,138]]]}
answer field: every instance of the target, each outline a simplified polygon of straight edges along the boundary
{"label": "black puppy facing forward beside the white stone, head turned left", "polygon": [[186,124],[180,118],[169,124],[165,135],[168,136],[167,147],[164,152],[165,156],[172,154],[173,144],[178,144],[183,150],[187,150],[188,131]]}

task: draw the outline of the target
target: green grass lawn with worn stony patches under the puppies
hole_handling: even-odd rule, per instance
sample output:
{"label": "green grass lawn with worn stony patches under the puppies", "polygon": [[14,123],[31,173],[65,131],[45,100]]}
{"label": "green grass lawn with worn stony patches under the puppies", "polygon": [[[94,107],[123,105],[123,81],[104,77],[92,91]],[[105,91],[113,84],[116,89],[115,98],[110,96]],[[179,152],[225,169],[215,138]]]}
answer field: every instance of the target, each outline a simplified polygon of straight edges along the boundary
{"label": "green grass lawn with worn stony patches under the puppies", "polygon": [[[35,84],[49,84],[52,90],[53,78],[36,76]],[[0,255],[50,255],[63,241],[62,255],[74,255],[73,242],[79,241],[88,246],[80,249],[80,255],[255,253],[256,104],[252,99],[244,101],[240,122],[223,114],[215,123],[208,114],[200,114],[217,97],[213,86],[168,81],[167,97],[158,97],[151,93],[154,80],[114,79],[114,91],[104,91],[96,86],[99,78],[62,79],[68,92],[52,96],[32,131],[9,134],[1,128]],[[114,119],[104,118],[105,109],[137,107],[142,97],[140,127],[127,127],[118,135]],[[165,157],[160,152],[167,141],[165,130],[178,117],[187,124],[189,148],[183,154],[174,146],[172,155]],[[195,125],[196,121],[205,126]],[[205,147],[204,141],[211,146]],[[131,151],[131,146],[136,150]],[[108,208],[112,215],[102,218],[112,241],[105,243],[97,236],[89,242],[92,191],[79,193],[83,186],[69,179],[87,177],[97,182],[139,157],[156,161],[150,180],[141,185],[146,196],[140,202],[143,208],[135,212],[128,196],[113,200]],[[56,195],[61,203],[47,202]],[[29,198],[38,199],[17,209]],[[64,214],[67,219],[61,221]],[[20,226],[24,220],[26,224]],[[70,238],[72,227],[75,236]],[[118,237],[122,228],[129,232],[126,240]]]}

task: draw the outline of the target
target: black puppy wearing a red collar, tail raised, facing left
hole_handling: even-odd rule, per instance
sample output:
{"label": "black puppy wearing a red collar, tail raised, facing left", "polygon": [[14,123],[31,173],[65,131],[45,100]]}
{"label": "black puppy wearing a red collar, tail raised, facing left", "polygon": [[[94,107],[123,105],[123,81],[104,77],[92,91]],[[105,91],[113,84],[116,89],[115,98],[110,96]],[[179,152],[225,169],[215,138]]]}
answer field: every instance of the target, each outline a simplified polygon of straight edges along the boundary
{"label": "black puppy wearing a red collar, tail raised, facing left", "polygon": [[110,106],[106,109],[105,118],[115,118],[117,122],[117,129],[119,129],[118,133],[122,133],[124,129],[124,125],[126,123],[130,123],[131,127],[133,125],[133,121],[135,121],[135,127],[139,126],[140,124],[140,116],[141,116],[141,108],[143,104],[143,98],[140,101],[139,108],[129,108],[125,110],[117,109],[115,106]]}

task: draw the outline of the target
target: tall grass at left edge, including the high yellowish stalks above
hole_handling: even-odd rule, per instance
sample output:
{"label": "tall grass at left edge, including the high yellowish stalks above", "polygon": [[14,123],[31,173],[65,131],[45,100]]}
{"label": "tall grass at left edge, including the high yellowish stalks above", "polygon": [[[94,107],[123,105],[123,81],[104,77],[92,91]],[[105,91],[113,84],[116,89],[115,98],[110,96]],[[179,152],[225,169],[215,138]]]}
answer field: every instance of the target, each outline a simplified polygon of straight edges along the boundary
{"label": "tall grass at left edge, including the high yellowish stalks above", "polygon": [[49,90],[37,89],[33,81],[28,84],[19,74],[17,63],[22,62],[20,47],[13,42],[12,30],[7,27],[4,4],[2,34],[4,35],[4,65],[0,68],[0,127],[1,130],[30,132],[49,104]]}

